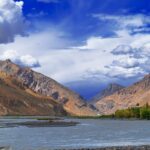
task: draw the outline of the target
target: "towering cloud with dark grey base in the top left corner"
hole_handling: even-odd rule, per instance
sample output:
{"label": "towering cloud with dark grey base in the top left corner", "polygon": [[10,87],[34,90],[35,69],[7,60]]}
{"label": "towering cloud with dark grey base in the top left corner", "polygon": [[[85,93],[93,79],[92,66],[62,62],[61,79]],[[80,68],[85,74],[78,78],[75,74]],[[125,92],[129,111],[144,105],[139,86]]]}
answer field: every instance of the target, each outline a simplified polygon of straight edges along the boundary
{"label": "towering cloud with dark grey base in the top left corner", "polygon": [[23,1],[0,0],[0,43],[14,40],[16,35],[24,35]]}

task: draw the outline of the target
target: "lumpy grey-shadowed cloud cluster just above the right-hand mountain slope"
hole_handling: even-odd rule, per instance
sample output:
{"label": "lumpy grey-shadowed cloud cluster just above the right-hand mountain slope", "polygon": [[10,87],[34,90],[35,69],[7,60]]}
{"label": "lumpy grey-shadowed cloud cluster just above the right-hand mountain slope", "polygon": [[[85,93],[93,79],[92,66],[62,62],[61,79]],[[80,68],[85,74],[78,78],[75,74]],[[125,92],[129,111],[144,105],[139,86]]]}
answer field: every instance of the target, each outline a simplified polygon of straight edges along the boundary
{"label": "lumpy grey-shadowed cloud cluster just above the right-hand mountain slope", "polygon": [[[109,76],[120,76],[120,77],[137,77],[140,75],[145,75],[149,73],[150,68],[150,44],[146,43],[140,48],[132,48],[129,46],[127,50],[124,51],[123,48],[117,46],[117,51],[114,49],[112,51],[115,59],[109,66],[107,75]],[[115,73],[114,73],[115,72]]]}

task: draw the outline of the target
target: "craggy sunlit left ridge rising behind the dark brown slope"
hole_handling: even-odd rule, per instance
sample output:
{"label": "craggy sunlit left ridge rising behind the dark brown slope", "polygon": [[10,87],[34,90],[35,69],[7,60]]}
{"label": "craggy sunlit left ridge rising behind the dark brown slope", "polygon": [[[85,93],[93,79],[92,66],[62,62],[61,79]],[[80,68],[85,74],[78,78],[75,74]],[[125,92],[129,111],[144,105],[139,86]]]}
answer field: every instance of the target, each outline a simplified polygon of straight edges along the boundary
{"label": "craggy sunlit left ridge rising behind the dark brown slope", "polygon": [[23,87],[30,95],[52,97],[69,114],[95,115],[96,113],[78,94],[30,68],[20,67],[6,60],[0,61],[0,71],[19,81],[18,86]]}

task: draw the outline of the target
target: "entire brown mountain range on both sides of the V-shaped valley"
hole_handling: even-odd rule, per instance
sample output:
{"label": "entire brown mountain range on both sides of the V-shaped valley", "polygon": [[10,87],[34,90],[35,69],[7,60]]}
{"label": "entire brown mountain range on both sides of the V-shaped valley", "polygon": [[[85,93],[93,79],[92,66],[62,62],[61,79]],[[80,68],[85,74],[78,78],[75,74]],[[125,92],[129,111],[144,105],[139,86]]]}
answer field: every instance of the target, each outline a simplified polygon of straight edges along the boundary
{"label": "entire brown mountain range on both sides of the V-shaped valley", "polygon": [[150,104],[150,74],[131,86],[112,83],[87,102],[50,77],[0,61],[0,115],[96,116]]}

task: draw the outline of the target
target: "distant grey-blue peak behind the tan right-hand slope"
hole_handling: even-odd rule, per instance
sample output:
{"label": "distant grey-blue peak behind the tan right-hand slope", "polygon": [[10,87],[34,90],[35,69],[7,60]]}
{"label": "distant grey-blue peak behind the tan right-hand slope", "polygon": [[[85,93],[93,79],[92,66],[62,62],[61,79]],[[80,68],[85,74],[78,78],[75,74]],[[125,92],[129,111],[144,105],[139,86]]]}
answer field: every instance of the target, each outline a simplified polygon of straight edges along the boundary
{"label": "distant grey-blue peak behind the tan right-hand slope", "polygon": [[95,103],[106,96],[112,95],[113,93],[120,91],[123,88],[124,88],[124,86],[122,86],[120,84],[111,83],[104,90],[102,90],[100,93],[98,93],[96,96],[94,96],[90,102]]}

